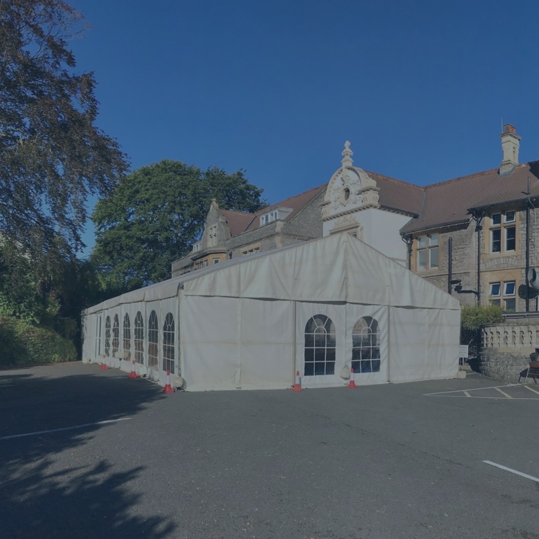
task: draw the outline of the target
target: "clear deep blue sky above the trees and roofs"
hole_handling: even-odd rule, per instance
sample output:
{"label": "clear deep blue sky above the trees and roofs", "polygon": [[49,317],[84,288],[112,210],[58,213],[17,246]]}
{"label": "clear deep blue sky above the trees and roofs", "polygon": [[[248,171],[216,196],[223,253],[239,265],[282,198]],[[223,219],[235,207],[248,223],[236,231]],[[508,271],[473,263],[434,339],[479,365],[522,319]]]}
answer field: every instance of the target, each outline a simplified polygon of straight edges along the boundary
{"label": "clear deep blue sky above the trees and roofs", "polygon": [[502,117],[539,159],[539,2],[70,3],[133,168],[243,168],[274,203],[328,182],[349,140],[355,165],[425,185],[497,167]]}

